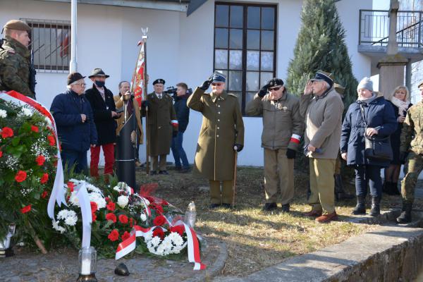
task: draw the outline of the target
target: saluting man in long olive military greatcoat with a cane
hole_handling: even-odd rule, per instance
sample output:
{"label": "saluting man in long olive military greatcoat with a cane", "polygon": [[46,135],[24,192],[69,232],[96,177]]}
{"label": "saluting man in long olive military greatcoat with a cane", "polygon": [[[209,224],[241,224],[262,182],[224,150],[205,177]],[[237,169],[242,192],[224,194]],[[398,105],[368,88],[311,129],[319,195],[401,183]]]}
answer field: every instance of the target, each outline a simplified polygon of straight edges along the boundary
{"label": "saluting man in long olive military greatcoat with a cane", "polygon": [[[197,87],[187,102],[188,107],[203,115],[194,166],[204,178],[209,179],[212,209],[220,205],[231,207],[234,149],[240,152],[244,145],[244,123],[238,98],[225,91],[225,81],[223,75],[214,73]],[[210,84],[212,93],[204,93]]]}

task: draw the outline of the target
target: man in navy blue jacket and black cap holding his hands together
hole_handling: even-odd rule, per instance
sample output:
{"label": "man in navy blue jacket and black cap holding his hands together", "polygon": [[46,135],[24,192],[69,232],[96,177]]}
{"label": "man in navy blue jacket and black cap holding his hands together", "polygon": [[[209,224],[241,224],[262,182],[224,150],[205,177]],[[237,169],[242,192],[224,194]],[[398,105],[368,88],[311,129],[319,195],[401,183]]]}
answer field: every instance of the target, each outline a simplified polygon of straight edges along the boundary
{"label": "man in navy blue jacket and black cap holding his hands together", "polygon": [[97,130],[90,103],[84,96],[85,76],[68,75],[68,91],[54,97],[50,111],[61,141],[61,160],[68,170],[87,174],[87,150],[96,147]]}

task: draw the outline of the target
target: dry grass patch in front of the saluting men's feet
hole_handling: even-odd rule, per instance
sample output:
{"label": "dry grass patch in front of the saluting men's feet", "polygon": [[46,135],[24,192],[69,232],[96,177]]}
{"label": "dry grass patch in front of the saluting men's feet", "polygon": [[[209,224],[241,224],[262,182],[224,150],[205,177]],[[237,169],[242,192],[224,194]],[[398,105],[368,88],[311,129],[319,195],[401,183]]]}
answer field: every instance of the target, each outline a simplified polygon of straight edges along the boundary
{"label": "dry grass patch in front of the saluting men's feet", "polygon": [[[238,168],[237,200],[233,210],[208,209],[207,180],[192,173],[181,174],[173,170],[169,173],[168,176],[145,176],[145,171],[137,171],[137,182],[159,183],[155,195],[181,209],[191,200],[195,201],[197,231],[206,237],[223,240],[228,246],[229,257],[223,275],[244,276],[288,257],[313,252],[375,228],[343,221],[355,200],[336,203],[340,221],[320,224],[302,216],[302,212],[310,209],[305,204],[308,183],[305,173],[295,175],[295,198],[289,214],[261,211],[264,204],[262,168]],[[348,190],[353,192],[353,186],[348,185]],[[399,198],[395,199],[398,205]]]}

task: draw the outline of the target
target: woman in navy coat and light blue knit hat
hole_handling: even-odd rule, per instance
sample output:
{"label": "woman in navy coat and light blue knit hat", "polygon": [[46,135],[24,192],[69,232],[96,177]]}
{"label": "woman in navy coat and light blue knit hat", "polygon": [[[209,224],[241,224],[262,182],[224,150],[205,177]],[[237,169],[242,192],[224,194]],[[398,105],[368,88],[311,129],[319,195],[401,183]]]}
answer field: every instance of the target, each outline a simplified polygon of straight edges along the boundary
{"label": "woman in navy coat and light blue knit hat", "polygon": [[355,168],[357,205],[353,214],[366,214],[364,202],[369,186],[372,195],[370,215],[378,216],[382,194],[381,168],[389,166],[389,161],[367,158],[364,133],[369,137],[387,137],[396,130],[397,122],[391,104],[373,92],[372,80],[363,78],[357,92],[358,99],[348,108],[342,125],[341,157],[348,166]]}

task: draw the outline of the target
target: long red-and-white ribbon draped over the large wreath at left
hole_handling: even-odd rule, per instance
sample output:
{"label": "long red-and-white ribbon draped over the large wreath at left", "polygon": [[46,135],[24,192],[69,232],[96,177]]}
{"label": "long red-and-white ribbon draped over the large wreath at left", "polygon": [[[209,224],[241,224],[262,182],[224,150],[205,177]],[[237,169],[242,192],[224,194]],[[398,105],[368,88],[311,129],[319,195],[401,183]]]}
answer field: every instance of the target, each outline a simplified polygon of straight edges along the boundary
{"label": "long red-and-white ribbon draped over the large wreath at left", "polygon": [[57,129],[56,129],[56,123],[54,122],[54,118],[51,115],[50,111],[43,106],[42,104],[39,104],[39,102],[35,101],[34,99],[27,97],[23,94],[20,94],[16,91],[9,91],[9,92],[0,92],[0,99],[3,99],[5,101],[14,102],[16,104],[28,104],[32,106],[32,108],[36,109],[39,114],[42,114],[46,118],[49,119],[51,122],[51,128],[53,130],[54,137],[56,137],[56,147],[57,147],[57,168],[56,168],[56,178],[54,178],[54,185],[53,190],[51,190],[51,195],[49,199],[49,204],[47,205],[47,213],[49,214],[49,217],[51,219],[54,219],[54,204],[57,202],[59,207],[61,204],[66,204],[65,200],[65,192],[63,190],[63,166],[61,162],[61,156],[60,156],[60,149],[59,149],[59,138],[57,136]]}

